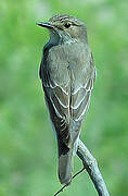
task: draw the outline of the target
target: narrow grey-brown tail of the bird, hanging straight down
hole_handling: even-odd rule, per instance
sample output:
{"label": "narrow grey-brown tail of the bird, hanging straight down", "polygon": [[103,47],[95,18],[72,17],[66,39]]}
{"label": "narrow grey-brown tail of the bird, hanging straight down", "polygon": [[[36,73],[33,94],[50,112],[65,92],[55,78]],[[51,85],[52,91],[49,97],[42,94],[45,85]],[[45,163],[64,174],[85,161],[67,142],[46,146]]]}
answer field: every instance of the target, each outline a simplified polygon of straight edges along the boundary
{"label": "narrow grey-brown tail of the bird, hanging straight down", "polygon": [[64,143],[59,144],[59,179],[61,184],[69,185],[73,172],[73,149]]}

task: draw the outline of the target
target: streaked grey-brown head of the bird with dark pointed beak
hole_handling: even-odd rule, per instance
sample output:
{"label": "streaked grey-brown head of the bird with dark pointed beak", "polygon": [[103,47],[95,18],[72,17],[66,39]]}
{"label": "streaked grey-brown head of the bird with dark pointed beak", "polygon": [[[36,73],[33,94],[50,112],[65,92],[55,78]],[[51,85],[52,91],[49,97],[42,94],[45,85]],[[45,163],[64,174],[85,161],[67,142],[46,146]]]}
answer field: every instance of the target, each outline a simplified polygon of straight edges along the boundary
{"label": "streaked grey-brown head of the bird with dark pointed beak", "polygon": [[54,15],[47,23],[38,23],[39,26],[50,30],[51,37],[60,41],[87,42],[87,28],[84,22],[71,15]]}

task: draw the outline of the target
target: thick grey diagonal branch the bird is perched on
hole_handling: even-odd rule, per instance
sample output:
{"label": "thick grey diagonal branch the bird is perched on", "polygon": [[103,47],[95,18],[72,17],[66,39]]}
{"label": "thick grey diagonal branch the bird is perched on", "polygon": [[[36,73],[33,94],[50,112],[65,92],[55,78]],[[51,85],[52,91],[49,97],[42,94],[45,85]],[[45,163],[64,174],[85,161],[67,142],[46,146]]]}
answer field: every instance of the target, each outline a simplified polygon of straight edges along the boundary
{"label": "thick grey diagonal branch the bird is perched on", "polygon": [[98,168],[97,160],[81,140],[79,140],[78,144],[77,155],[82,160],[84,167],[92,180],[99,196],[110,196],[104,180]]}

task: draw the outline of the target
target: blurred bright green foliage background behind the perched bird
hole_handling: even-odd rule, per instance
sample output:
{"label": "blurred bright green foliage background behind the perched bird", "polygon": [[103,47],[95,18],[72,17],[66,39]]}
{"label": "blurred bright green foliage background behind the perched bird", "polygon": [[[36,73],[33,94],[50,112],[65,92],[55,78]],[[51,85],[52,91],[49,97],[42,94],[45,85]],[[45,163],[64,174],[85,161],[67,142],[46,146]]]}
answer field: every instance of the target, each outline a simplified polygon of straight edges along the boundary
{"label": "blurred bright green foliage background behind the perched bird", "polygon": [[[81,138],[98,159],[112,196],[128,195],[128,1],[1,0],[0,196],[53,195],[61,185],[57,149],[38,76],[56,13],[85,21],[98,77]],[[75,172],[81,163],[75,158]],[[97,192],[82,173],[61,195]]]}

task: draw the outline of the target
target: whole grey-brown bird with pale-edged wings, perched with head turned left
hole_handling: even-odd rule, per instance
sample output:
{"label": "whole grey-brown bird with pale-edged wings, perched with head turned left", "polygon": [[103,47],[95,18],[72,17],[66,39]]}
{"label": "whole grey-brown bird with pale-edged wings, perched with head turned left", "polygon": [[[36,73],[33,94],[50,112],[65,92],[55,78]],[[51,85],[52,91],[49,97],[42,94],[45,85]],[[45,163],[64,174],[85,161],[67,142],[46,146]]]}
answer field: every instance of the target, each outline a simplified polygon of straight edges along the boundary
{"label": "whole grey-brown bird with pale-edged wings, perched with head turned left", "polygon": [[82,21],[68,14],[56,14],[38,25],[50,33],[43,47],[39,76],[56,134],[59,179],[61,184],[69,185],[73,157],[95,81],[95,65]]}

